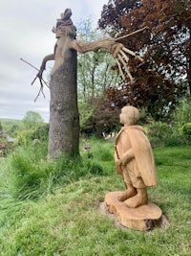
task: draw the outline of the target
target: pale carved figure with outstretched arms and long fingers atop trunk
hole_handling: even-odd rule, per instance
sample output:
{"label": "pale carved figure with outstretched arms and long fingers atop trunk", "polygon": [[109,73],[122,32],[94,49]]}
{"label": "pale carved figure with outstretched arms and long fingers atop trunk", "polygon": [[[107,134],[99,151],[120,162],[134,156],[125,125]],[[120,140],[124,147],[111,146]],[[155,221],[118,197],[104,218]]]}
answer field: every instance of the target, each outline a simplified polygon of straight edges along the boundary
{"label": "pale carved figure with outstretched arms and long fingers atop trunk", "polygon": [[[71,19],[71,15],[71,9],[66,9],[65,12],[61,13],[61,19],[57,19],[56,26],[55,28],[53,27],[53,33],[55,33],[55,37],[57,38],[54,46],[54,53],[43,58],[42,65],[36,77],[42,81],[42,74],[46,69],[46,62],[48,60],[54,59],[55,63],[52,70],[53,74],[56,68],[58,68],[64,61],[67,47],[72,50],[76,50],[80,54],[84,54],[90,51],[96,52],[97,50],[103,48],[107,50],[114,58],[116,58],[118,69],[123,80],[128,77],[130,81],[133,81],[134,78],[132,77],[128,67],[129,56],[138,58],[140,61],[142,61],[142,58],[140,58],[135,52],[125,48],[122,43],[117,42],[119,39],[121,39],[121,37],[100,38],[94,42],[76,40],[76,28]],[[138,33],[144,29],[145,28],[140,29],[135,33]]]}

